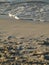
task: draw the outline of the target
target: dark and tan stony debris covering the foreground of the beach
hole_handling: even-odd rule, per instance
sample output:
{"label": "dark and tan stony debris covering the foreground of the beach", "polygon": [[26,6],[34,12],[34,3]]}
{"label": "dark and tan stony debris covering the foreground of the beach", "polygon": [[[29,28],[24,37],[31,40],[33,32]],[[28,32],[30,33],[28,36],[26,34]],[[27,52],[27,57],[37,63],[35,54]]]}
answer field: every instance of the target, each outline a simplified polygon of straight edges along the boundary
{"label": "dark and tan stony debris covering the foreground of the beach", "polygon": [[0,63],[5,62],[5,65],[8,63],[9,65],[48,64],[49,38],[44,41],[37,38],[28,38],[25,41],[24,37],[19,39],[17,41],[15,36],[9,36],[0,43]]}

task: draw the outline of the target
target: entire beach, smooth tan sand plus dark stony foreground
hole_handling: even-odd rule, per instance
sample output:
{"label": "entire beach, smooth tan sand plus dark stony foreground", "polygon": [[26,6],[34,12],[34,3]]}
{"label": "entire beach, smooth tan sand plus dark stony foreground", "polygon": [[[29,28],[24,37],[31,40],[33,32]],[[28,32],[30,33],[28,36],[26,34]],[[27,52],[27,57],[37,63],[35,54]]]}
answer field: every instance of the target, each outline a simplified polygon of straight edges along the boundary
{"label": "entire beach, smooth tan sand plus dark stony foreground", "polygon": [[0,19],[0,65],[29,64],[49,64],[49,23]]}

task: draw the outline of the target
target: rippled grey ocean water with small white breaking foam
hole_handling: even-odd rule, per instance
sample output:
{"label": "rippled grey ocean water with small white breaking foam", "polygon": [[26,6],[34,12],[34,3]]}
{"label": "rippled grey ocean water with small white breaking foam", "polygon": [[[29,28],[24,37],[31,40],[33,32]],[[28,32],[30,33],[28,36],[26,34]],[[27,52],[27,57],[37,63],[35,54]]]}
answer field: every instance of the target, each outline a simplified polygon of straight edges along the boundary
{"label": "rippled grey ocean water with small white breaking foam", "polygon": [[[10,1],[10,0],[9,0]],[[11,0],[12,1],[12,0]],[[0,2],[0,15],[32,21],[49,21],[49,1],[12,1]]]}

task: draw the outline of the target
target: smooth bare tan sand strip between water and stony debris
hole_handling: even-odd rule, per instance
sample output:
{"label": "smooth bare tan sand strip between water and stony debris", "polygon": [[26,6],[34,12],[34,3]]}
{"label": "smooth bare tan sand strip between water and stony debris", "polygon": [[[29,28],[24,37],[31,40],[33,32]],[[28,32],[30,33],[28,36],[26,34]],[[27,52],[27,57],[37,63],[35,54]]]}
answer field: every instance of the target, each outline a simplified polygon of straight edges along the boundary
{"label": "smooth bare tan sand strip between water and stony debris", "polygon": [[24,20],[0,19],[0,32],[14,36],[49,36],[49,23],[33,23]]}

